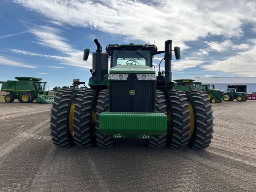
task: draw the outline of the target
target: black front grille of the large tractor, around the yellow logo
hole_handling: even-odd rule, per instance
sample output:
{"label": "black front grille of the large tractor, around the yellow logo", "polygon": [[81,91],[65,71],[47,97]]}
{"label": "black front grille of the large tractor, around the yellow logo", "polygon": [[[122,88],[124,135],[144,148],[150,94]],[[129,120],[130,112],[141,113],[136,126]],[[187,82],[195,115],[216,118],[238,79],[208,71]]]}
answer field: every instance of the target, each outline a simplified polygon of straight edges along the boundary
{"label": "black front grille of the large tractor, around the yellow logo", "polygon": [[136,74],[129,74],[128,80],[109,80],[108,84],[110,112],[155,112],[156,80],[139,81]]}

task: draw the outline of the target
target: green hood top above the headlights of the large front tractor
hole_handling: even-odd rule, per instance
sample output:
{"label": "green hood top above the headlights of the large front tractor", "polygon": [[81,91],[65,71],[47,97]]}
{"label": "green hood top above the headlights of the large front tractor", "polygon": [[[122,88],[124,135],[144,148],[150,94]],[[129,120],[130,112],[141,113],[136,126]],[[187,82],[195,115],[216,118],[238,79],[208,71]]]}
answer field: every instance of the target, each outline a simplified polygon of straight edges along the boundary
{"label": "green hood top above the headlights of the large front tractor", "polygon": [[145,65],[117,65],[109,69],[109,73],[147,73],[155,74],[155,69]]}

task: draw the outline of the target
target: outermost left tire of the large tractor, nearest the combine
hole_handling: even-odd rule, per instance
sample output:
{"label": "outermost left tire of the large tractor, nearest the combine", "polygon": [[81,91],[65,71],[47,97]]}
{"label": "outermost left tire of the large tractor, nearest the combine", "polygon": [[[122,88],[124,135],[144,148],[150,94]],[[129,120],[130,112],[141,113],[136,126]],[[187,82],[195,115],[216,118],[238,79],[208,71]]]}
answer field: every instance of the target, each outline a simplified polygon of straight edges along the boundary
{"label": "outermost left tire of the large tractor, nearest the combine", "polygon": [[74,145],[73,139],[73,110],[76,93],[67,89],[64,92],[57,92],[52,102],[50,131],[52,142],[60,148],[67,148]]}

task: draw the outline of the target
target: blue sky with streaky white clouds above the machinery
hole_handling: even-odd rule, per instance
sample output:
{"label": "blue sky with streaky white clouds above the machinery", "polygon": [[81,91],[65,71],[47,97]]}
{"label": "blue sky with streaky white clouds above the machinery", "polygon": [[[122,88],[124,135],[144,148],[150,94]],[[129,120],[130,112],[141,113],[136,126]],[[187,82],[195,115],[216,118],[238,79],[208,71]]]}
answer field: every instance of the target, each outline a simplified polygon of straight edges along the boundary
{"label": "blue sky with streaky white clouds above the machinery", "polygon": [[92,56],[83,61],[83,50],[95,51],[95,38],[103,48],[158,50],[171,39],[181,48],[174,78],[256,76],[255,0],[0,0],[0,80],[87,83]]}

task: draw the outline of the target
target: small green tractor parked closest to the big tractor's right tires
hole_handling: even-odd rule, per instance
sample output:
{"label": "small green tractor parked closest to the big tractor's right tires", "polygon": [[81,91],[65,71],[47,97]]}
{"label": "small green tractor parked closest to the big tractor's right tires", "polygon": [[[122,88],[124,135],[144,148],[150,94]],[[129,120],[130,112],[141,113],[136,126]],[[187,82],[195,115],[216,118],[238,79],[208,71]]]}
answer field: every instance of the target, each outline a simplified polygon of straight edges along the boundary
{"label": "small green tractor parked closest to the big tractor's right tires", "polygon": [[224,91],[215,89],[214,85],[202,84],[201,90],[208,94],[208,98],[210,98],[211,103],[221,103],[223,101]]}

